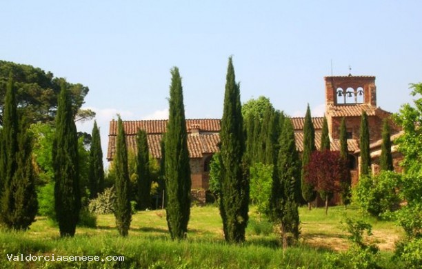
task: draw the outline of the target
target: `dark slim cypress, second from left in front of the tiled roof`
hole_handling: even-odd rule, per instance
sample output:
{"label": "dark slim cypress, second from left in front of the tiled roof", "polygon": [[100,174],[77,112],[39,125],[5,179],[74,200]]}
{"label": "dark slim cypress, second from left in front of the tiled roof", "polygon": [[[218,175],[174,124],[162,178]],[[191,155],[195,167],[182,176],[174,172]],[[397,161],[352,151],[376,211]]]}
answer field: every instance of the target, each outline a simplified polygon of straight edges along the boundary
{"label": "dark slim cypress, second from left in front of the tiled roof", "polygon": [[147,133],[141,129],[137,133],[137,177],[138,207],[145,210],[151,206],[150,155]]}

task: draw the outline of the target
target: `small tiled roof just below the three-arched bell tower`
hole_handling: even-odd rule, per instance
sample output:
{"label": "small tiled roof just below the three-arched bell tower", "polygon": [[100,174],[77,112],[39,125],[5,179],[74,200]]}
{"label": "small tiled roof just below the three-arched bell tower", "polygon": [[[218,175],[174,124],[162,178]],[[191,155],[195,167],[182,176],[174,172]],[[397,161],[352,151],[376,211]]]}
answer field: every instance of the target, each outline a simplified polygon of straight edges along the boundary
{"label": "small tiled roof just below the three-arched bell tower", "polygon": [[327,114],[331,117],[360,117],[365,111],[368,116],[375,116],[381,113],[388,113],[381,108],[374,108],[369,103],[358,103],[352,105],[330,105],[327,108]]}

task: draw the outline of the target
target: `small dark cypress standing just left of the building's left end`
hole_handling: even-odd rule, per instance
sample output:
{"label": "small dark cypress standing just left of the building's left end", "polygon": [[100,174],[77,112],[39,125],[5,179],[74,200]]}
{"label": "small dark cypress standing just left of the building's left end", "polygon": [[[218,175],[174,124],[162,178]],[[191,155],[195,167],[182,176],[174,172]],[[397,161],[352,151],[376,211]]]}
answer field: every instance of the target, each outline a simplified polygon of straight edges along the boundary
{"label": "small dark cypress standing just left of the building's left end", "polygon": [[90,198],[97,197],[104,190],[103,150],[101,150],[101,137],[97,121],[92,128],[92,141],[90,149],[90,170],[88,174]]}

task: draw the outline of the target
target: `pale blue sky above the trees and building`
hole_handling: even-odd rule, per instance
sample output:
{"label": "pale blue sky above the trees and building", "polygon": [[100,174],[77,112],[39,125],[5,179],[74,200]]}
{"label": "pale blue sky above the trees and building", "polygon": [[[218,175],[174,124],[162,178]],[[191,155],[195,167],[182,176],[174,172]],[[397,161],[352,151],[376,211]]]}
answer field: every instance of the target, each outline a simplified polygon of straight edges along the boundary
{"label": "pale blue sky above the trees and building", "polygon": [[117,112],[167,116],[172,66],[188,118],[221,117],[230,55],[243,102],[264,95],[292,116],[307,103],[323,113],[331,61],[334,75],[376,76],[378,106],[391,112],[422,81],[422,1],[2,2],[0,59],[88,86],[104,149]]}

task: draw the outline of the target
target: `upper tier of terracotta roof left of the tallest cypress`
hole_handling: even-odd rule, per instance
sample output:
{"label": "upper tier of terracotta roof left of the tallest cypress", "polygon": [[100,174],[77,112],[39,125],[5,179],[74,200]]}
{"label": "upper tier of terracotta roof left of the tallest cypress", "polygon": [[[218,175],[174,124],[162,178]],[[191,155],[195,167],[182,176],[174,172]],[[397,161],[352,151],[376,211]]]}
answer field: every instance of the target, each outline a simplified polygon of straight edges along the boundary
{"label": "upper tier of terracotta roof left of the tallest cypress", "polygon": [[[219,132],[220,119],[186,119],[186,129],[188,132],[193,126],[199,127],[203,132]],[[150,134],[162,134],[167,129],[167,119],[143,120],[143,121],[123,121],[123,128],[126,135],[136,135],[139,129]],[[117,135],[117,121],[110,121],[109,135]]]}

